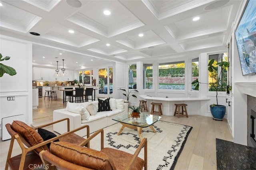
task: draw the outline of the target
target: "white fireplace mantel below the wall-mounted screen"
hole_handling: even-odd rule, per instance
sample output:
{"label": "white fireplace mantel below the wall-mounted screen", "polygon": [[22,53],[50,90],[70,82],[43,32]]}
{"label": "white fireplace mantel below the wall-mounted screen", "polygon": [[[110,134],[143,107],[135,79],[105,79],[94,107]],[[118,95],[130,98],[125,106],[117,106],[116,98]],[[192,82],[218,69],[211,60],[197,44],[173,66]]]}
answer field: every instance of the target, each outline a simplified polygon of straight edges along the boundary
{"label": "white fireplace mantel below the wall-mounted screen", "polygon": [[242,93],[256,98],[256,81],[254,82],[235,82]]}

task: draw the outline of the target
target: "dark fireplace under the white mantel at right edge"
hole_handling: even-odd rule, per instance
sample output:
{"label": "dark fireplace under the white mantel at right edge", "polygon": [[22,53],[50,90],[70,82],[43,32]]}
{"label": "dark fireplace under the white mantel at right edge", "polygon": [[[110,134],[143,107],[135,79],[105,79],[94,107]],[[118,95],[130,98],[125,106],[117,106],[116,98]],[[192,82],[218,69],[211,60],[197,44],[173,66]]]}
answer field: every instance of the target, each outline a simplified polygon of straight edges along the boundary
{"label": "dark fireplace under the white mantel at right edge", "polygon": [[247,145],[256,148],[256,98],[247,96]]}

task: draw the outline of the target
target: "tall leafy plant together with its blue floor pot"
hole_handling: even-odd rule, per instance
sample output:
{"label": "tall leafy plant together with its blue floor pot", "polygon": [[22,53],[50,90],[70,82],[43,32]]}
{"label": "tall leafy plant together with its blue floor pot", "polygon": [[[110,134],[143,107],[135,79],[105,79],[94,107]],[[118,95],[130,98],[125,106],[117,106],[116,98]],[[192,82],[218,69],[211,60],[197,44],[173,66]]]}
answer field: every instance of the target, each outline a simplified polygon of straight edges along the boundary
{"label": "tall leafy plant together with its blue floor pot", "polygon": [[[218,91],[226,88],[226,84],[224,83],[224,76],[222,73],[224,70],[226,70],[226,68],[229,67],[229,62],[221,61],[220,63],[217,63],[217,66],[214,66],[214,61],[215,61],[215,59],[212,59],[209,61],[208,71],[210,72],[211,78],[212,78],[212,82],[209,83],[210,90],[216,92],[217,104],[211,104],[210,110],[211,110],[212,116],[215,120],[222,120],[226,113],[226,106],[218,104]],[[218,71],[218,66],[220,67],[219,74],[216,73],[216,71]],[[192,82],[192,84],[195,86],[195,90],[199,89],[200,83],[201,82],[198,82],[198,79],[196,79]],[[203,83],[203,84],[207,84],[207,83]]]}

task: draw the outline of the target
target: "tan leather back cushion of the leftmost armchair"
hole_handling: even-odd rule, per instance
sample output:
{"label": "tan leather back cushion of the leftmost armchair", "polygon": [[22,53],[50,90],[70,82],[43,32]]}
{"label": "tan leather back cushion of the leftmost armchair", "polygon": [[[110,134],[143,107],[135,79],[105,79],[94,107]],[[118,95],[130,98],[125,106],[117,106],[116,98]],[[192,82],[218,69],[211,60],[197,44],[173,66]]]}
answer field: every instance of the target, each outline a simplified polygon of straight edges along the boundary
{"label": "tan leather back cushion of the leftmost armchair", "polygon": [[[35,129],[22,121],[13,121],[12,129],[19,133],[30,144],[30,146],[34,146],[44,141],[44,139],[42,139],[42,137]],[[36,148],[35,150],[39,153],[42,150],[49,150],[49,148],[47,145],[44,145],[42,147]]]}

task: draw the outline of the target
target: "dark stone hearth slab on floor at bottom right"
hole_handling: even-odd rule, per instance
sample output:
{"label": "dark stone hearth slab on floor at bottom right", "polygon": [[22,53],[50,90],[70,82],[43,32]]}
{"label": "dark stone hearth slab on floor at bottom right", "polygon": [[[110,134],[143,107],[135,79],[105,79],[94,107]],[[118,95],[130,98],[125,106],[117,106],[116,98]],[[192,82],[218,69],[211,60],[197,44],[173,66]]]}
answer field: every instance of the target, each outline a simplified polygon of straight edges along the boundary
{"label": "dark stone hearth slab on floor at bottom right", "polygon": [[255,170],[256,148],[216,139],[218,170]]}

